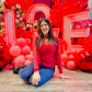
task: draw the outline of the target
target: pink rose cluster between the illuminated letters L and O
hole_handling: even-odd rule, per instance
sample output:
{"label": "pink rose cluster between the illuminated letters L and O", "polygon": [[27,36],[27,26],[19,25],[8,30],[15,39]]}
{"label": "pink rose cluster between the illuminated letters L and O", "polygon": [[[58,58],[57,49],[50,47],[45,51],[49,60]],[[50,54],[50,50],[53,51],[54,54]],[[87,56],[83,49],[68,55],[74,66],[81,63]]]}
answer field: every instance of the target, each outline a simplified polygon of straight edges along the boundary
{"label": "pink rose cluster between the illuminated letters L and O", "polygon": [[38,22],[35,21],[35,23],[31,23],[30,20],[26,20],[26,13],[25,11],[21,10],[21,5],[20,4],[15,4],[11,7],[11,9],[14,9],[15,11],[15,25],[16,28],[22,27],[23,30],[27,30],[27,28],[37,28]]}

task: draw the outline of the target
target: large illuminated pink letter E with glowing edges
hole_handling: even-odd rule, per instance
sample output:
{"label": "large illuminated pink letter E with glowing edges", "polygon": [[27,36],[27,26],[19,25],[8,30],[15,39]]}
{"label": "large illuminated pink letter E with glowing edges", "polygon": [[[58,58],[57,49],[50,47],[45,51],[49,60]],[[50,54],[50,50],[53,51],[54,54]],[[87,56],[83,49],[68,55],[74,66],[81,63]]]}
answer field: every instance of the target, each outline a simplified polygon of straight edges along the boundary
{"label": "large illuminated pink letter E with glowing edges", "polygon": [[67,15],[64,18],[64,41],[68,45],[68,49],[82,50],[81,45],[71,45],[71,37],[87,37],[89,35],[87,28],[71,30],[71,22],[84,21],[90,19],[90,11]]}

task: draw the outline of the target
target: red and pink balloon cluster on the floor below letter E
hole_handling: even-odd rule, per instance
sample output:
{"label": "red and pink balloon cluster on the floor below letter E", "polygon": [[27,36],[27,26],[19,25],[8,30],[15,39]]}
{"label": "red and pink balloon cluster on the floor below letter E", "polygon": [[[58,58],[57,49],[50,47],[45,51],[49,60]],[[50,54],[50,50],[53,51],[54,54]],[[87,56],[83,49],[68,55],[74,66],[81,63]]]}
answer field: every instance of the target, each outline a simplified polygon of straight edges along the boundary
{"label": "red and pink balloon cluster on the floor below letter E", "polygon": [[92,70],[92,34],[82,38],[83,50],[66,50],[61,54],[62,65],[68,69]]}

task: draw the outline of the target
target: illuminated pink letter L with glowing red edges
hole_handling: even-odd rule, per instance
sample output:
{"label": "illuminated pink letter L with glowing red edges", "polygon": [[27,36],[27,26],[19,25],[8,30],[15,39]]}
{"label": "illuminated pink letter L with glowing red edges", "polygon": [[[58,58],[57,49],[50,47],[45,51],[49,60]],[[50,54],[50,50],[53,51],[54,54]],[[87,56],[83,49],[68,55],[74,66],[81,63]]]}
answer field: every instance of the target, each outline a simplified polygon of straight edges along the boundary
{"label": "illuminated pink letter L with glowing red edges", "polygon": [[11,45],[15,38],[15,23],[14,23],[14,11],[7,10],[4,14],[4,22],[5,22],[5,41],[7,45]]}

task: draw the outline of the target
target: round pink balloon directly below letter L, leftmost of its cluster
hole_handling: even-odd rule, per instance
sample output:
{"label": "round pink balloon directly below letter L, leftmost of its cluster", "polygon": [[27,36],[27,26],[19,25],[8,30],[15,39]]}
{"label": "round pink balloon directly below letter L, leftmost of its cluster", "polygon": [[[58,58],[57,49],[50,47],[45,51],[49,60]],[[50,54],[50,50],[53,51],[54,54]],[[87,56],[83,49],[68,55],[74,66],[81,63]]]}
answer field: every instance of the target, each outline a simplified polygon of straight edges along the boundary
{"label": "round pink balloon directly below letter L, leftmost of its cluster", "polygon": [[11,46],[9,51],[12,56],[18,56],[21,54],[21,47],[18,45]]}

